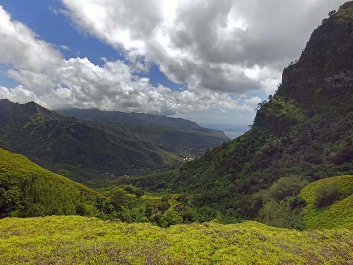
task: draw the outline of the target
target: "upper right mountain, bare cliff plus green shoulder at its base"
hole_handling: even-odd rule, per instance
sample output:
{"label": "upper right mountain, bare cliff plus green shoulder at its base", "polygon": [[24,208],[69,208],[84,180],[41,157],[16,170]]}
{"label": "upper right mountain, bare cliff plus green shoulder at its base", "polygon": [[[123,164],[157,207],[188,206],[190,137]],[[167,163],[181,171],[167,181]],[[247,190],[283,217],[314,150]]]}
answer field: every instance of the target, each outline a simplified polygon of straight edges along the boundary
{"label": "upper right mountain, bare cliff plus green shoulder at its base", "polygon": [[324,19],[299,60],[284,69],[273,100],[257,113],[255,126],[285,133],[291,125],[330,110],[353,110],[353,2]]}

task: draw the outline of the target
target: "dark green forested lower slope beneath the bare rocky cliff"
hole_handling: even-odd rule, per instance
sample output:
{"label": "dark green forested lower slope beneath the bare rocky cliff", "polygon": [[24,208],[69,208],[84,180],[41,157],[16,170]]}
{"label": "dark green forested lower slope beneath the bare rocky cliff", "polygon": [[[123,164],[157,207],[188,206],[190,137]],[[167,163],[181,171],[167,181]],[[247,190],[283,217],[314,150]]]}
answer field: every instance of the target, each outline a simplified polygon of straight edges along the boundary
{"label": "dark green forested lower slope beneath the bare rocky cliff", "polygon": [[254,194],[278,180],[272,192],[279,203],[286,196],[297,196],[309,181],[353,174],[352,113],[342,116],[330,109],[309,117],[293,101],[277,95],[263,108],[259,113],[265,116],[258,116],[262,122],[244,135],[183,163],[178,171],[132,178],[127,183],[151,192],[193,194],[198,209],[213,208],[204,221],[236,222],[256,219],[265,203]]}

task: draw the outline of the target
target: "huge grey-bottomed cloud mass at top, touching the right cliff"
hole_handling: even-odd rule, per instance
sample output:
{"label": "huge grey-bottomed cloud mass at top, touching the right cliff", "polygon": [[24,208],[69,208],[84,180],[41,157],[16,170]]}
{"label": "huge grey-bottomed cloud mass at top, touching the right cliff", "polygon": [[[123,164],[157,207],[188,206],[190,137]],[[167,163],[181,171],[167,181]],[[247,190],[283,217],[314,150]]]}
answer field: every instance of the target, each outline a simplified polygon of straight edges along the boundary
{"label": "huge grey-bottomed cloud mass at top, touching the right cliff", "polygon": [[143,56],[158,63],[174,82],[271,94],[283,67],[342,0],[62,2],[80,30],[124,50],[131,61]]}

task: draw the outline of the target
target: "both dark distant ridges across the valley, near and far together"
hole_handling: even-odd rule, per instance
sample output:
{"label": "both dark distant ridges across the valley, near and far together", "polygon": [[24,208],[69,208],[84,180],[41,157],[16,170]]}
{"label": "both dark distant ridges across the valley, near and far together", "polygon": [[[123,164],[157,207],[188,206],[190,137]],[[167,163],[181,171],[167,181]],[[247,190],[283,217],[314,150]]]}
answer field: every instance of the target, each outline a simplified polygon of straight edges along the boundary
{"label": "both dark distant ridges across the valley, near and far together", "polygon": [[[94,113],[110,114],[98,110],[87,113],[92,113],[90,117]],[[172,167],[183,160],[182,155],[187,159],[228,140],[223,132],[201,128],[191,121],[141,114],[146,118],[140,118],[144,125],[138,125],[140,114],[132,115],[134,123],[128,123],[128,118],[127,122],[84,121],[34,102],[18,104],[3,99],[0,145],[54,172],[84,181],[108,172],[133,174]]]}

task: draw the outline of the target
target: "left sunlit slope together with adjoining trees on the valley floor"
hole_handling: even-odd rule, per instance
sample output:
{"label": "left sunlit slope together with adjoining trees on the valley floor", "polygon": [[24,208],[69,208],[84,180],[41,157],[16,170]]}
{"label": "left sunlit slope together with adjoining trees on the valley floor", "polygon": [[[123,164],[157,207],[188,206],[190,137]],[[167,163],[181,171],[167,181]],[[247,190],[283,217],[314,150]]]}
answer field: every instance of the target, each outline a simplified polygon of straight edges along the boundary
{"label": "left sunlit slope together with adjoining trees on the valley floor", "polygon": [[98,191],[106,197],[0,149],[0,218],[77,214],[162,227],[196,221],[194,207],[185,196],[151,196],[130,185]]}

